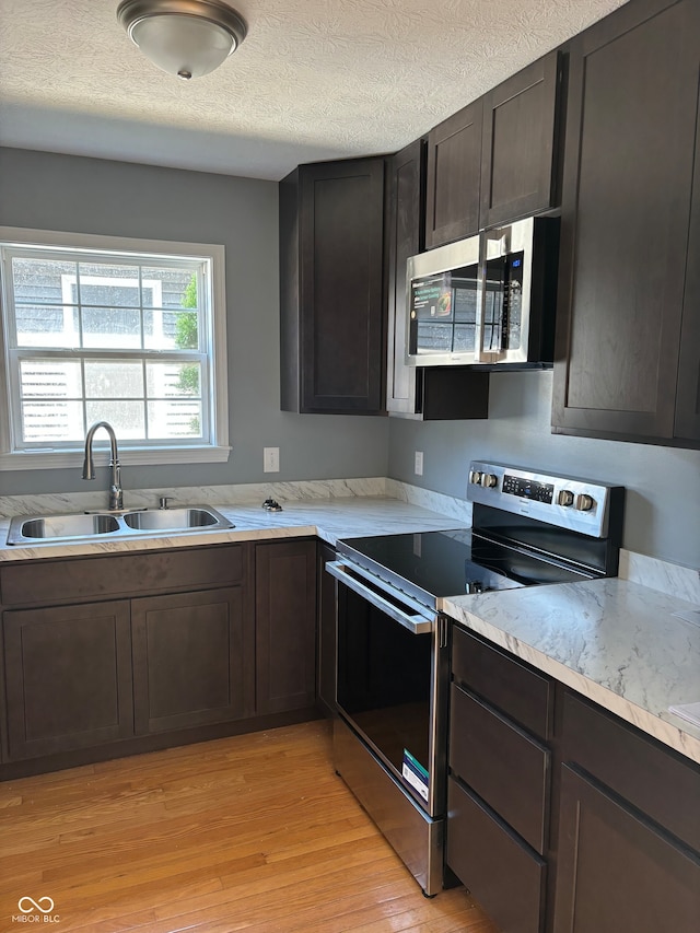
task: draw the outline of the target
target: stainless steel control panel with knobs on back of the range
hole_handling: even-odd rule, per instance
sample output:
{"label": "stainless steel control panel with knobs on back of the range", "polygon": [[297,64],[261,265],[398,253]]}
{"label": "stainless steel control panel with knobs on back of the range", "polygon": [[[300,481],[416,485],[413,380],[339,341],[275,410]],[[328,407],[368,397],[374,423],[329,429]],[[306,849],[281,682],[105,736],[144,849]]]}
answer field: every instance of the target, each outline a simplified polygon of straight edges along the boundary
{"label": "stainless steel control panel with knobs on back of the range", "polygon": [[609,502],[614,489],[621,487],[581,477],[550,476],[523,467],[472,460],[467,499],[604,538],[608,533]]}

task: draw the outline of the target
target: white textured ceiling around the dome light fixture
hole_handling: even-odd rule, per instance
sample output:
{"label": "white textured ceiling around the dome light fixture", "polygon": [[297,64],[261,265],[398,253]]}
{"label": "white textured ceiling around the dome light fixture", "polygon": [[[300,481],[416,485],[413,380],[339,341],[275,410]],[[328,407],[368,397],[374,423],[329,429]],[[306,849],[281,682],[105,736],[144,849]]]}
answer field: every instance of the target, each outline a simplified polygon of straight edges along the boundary
{"label": "white textured ceiling around the dome light fixture", "polygon": [[0,144],[278,179],[393,152],[622,0],[232,0],[248,35],[189,83],[118,0],[0,0]]}

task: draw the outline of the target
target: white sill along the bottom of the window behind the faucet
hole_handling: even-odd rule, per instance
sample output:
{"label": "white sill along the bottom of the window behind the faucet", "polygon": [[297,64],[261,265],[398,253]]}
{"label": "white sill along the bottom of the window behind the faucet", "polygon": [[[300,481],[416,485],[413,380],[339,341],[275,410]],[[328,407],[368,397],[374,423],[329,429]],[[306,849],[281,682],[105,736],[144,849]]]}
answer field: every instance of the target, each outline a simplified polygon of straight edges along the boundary
{"label": "white sill along the bottom of the window behind the faucet", "polygon": [[[109,463],[109,450],[95,444],[95,466]],[[121,466],[158,466],[160,464],[223,464],[231,447],[152,447],[150,450],[119,450]],[[81,451],[33,451],[32,453],[0,454],[0,470],[80,469]]]}

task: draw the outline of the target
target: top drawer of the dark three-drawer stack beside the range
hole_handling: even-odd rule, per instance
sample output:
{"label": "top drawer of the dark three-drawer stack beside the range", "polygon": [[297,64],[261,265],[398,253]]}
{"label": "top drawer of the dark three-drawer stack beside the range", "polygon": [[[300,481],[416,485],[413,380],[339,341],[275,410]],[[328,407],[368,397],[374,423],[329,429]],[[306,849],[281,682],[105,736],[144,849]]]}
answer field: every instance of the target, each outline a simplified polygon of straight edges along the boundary
{"label": "top drawer of the dark three-drawer stack beside the range", "polygon": [[454,679],[538,738],[551,738],[551,680],[457,626],[453,626],[452,632]]}

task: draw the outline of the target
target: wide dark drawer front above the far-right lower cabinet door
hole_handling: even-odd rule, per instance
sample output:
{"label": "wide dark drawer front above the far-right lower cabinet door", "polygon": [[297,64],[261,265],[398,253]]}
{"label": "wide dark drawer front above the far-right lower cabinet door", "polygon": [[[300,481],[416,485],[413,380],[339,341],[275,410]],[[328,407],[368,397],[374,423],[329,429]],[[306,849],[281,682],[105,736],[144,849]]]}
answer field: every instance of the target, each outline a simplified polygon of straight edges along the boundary
{"label": "wide dark drawer front above the far-right lower cabinet door", "polygon": [[564,693],[562,757],[700,852],[700,767]]}

